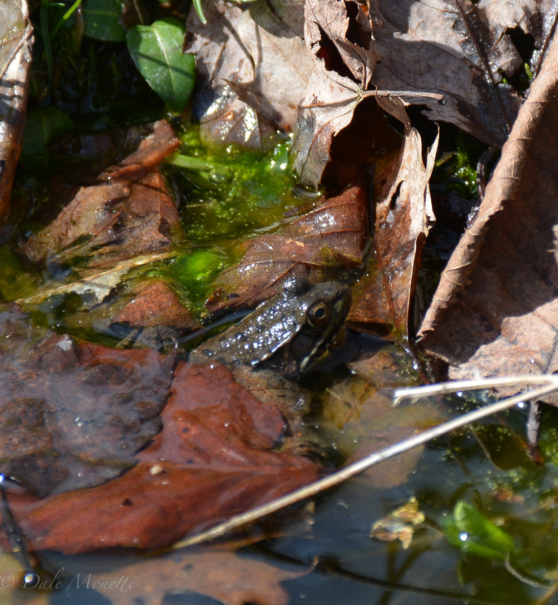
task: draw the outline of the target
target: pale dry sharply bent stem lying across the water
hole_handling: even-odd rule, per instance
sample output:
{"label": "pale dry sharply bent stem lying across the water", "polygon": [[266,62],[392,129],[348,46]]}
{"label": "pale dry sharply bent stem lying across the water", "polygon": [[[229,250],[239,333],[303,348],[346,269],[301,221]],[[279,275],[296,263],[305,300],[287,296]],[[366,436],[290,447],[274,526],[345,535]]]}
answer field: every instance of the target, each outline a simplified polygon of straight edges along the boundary
{"label": "pale dry sharply bent stem lying across the water", "polygon": [[243,514],[235,515],[228,521],[220,523],[219,525],[216,525],[214,528],[208,529],[205,532],[184,538],[183,540],[176,542],[172,548],[183,548],[185,546],[192,546],[206,540],[218,538],[228,533],[232,529],[240,528],[241,526],[246,525],[246,523],[252,523],[261,517],[266,517],[272,512],[278,511],[285,506],[290,506],[300,502],[301,500],[305,500],[310,496],[316,495],[319,492],[324,491],[324,489],[329,489],[335,485],[339,485],[339,483],[350,479],[350,477],[353,477],[361,471],[364,471],[364,469],[370,468],[370,466],[378,464],[378,462],[382,462],[382,460],[387,460],[388,458],[402,454],[407,450],[412,450],[412,448],[422,445],[431,439],[435,439],[436,437],[440,437],[446,433],[451,433],[451,431],[456,430],[456,428],[464,427],[471,422],[476,422],[476,420],[481,420],[482,418],[491,416],[497,412],[507,410],[519,402],[528,401],[529,399],[534,399],[535,397],[540,397],[547,393],[551,393],[551,391],[556,391],[558,390],[558,374],[542,374],[539,376],[526,374],[525,376],[508,376],[505,378],[443,382],[441,384],[426,385],[424,387],[397,389],[393,393],[394,405],[397,405],[401,399],[410,398],[416,400],[421,399],[421,397],[434,394],[439,395],[444,393],[454,393],[455,391],[471,391],[479,388],[495,388],[519,385],[525,386],[536,384],[545,384],[545,386],[534,388],[531,391],[527,391],[526,393],[521,393],[513,397],[508,397],[507,399],[502,399],[502,401],[486,405],[485,407],[479,408],[479,410],[474,410],[467,414],[463,414],[458,418],[444,422],[444,424],[438,425],[438,427],[433,427],[427,431],[422,431],[422,433],[418,433],[414,437],[410,437],[410,439],[405,439],[399,443],[396,443],[395,445],[390,445],[389,447],[384,448],[384,450],[379,450],[374,454],[370,454],[370,456],[359,460],[359,462],[355,462],[354,464],[349,465],[336,473],[332,473],[329,476],[324,477],[324,479],[310,483],[310,485],[297,489],[290,494],[284,495],[277,500],[269,502],[268,504],[253,508],[251,511],[246,511]]}

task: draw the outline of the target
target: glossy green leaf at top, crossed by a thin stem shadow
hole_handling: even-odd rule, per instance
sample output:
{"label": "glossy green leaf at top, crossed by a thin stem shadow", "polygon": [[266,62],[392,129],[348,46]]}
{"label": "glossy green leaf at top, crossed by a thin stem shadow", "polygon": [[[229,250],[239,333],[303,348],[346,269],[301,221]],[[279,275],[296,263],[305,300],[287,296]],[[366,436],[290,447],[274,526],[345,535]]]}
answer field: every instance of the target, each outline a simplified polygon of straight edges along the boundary
{"label": "glossy green leaf at top, crossed by a thin stem shadow", "polygon": [[195,59],[182,53],[185,27],[176,19],[134,25],[126,34],[128,50],[151,88],[172,111],[182,111],[194,88]]}

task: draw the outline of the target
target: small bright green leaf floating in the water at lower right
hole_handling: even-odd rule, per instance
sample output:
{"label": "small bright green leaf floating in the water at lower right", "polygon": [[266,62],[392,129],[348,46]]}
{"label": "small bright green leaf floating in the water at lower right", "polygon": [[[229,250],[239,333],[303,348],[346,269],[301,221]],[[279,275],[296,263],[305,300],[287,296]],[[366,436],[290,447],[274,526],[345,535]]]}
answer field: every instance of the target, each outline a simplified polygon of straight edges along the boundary
{"label": "small bright green leaf floating in the water at lower right", "polygon": [[505,559],[514,549],[509,534],[494,525],[470,504],[459,500],[453,517],[442,521],[451,545],[464,552],[491,559]]}

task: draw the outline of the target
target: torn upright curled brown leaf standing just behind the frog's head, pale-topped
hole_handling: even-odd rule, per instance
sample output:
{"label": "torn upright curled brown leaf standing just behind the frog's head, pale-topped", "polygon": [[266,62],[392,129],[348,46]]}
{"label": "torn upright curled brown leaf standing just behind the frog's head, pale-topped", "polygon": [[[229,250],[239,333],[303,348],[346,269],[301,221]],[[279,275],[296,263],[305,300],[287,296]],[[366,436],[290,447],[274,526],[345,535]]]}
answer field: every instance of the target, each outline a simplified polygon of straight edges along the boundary
{"label": "torn upright curled brown leaf standing just behind the frog's head, pale-topped", "polygon": [[376,175],[372,256],[367,274],[353,286],[348,320],[383,338],[407,338],[422,247],[435,221],[428,179],[437,145],[438,139],[425,167],[421,137],[407,127],[399,154]]}

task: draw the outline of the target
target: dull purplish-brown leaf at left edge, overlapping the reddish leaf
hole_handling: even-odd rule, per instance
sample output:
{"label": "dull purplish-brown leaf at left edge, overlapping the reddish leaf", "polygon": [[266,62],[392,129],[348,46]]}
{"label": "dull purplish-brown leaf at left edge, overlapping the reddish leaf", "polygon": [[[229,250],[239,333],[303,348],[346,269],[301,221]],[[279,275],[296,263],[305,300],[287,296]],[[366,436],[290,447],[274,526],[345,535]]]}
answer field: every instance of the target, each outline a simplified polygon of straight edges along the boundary
{"label": "dull purplish-brown leaf at left edge, overlapping the reddish leaf", "polygon": [[37,494],[99,485],[160,431],[174,359],[77,344],[0,307],[0,472]]}

